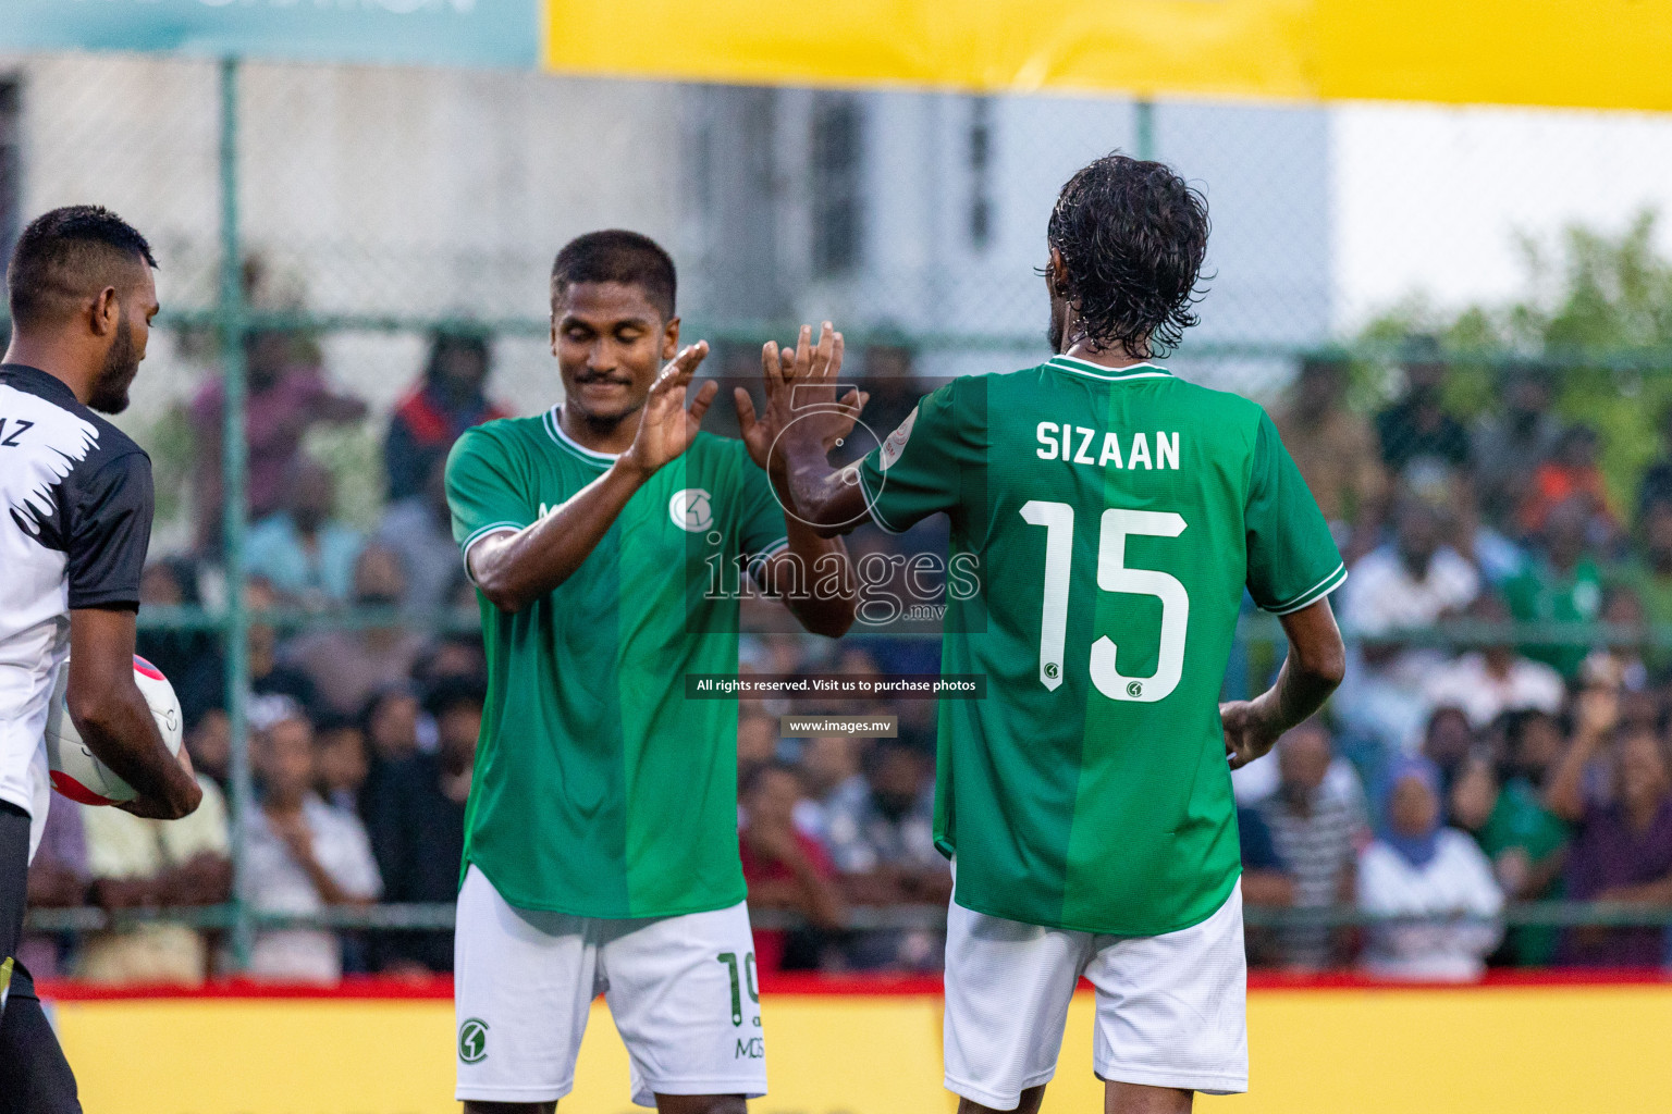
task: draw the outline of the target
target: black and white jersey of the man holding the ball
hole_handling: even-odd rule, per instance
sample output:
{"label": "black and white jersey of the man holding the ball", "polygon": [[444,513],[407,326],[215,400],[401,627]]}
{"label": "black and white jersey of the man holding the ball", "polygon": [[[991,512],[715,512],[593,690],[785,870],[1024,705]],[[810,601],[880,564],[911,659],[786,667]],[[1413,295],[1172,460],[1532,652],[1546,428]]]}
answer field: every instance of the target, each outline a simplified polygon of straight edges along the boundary
{"label": "black and white jersey of the man holding the ball", "polygon": [[150,511],[144,449],[64,381],[0,364],[0,800],[30,812],[35,842],[70,610],[139,608]]}

